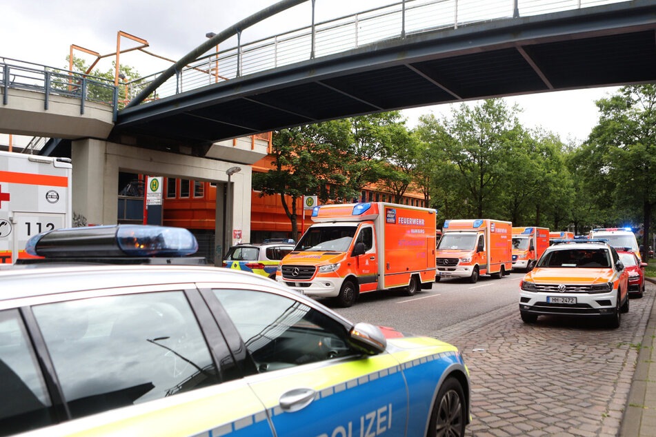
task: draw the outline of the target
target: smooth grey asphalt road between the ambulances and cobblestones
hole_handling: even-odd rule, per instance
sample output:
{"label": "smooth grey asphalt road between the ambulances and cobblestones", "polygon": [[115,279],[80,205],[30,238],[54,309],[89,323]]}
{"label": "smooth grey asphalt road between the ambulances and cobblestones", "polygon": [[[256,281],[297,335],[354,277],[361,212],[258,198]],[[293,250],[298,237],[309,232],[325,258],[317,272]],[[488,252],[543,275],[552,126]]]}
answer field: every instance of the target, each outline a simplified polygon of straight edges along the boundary
{"label": "smooth grey asphalt road between the ambulances and cobblestones", "polygon": [[319,301],[355,323],[368,322],[409,334],[430,335],[512,303],[519,305],[521,278],[524,273],[510,273],[500,279],[481,276],[475,284],[466,278],[442,279],[433,283],[430,290],[421,290],[415,296],[392,290],[366,293],[350,308],[338,307],[330,299]]}

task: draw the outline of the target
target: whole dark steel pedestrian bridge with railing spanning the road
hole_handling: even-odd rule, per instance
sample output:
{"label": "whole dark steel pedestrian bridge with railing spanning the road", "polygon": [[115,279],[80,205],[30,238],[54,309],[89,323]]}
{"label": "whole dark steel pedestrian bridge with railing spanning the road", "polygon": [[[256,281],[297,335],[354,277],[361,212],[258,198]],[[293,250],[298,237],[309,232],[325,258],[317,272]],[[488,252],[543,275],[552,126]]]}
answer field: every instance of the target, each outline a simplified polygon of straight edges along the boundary
{"label": "whole dark steel pedestrian bridge with railing spanning the road", "polygon": [[[301,3],[281,3],[290,2]],[[407,0],[231,50],[214,52],[217,38],[175,74],[130,84],[159,87],[118,112],[112,136],[210,144],[421,105],[656,81],[651,0]]]}

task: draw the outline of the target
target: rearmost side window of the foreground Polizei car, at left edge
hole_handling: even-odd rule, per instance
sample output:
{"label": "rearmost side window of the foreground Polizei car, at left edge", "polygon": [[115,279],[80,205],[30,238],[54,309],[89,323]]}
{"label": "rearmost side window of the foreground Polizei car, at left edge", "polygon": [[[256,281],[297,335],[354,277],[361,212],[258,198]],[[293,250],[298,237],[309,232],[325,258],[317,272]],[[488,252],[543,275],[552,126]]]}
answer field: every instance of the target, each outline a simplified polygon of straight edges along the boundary
{"label": "rearmost side window of the foreground Polizei car, at left edge", "polygon": [[52,425],[54,411],[23,321],[0,312],[0,436]]}

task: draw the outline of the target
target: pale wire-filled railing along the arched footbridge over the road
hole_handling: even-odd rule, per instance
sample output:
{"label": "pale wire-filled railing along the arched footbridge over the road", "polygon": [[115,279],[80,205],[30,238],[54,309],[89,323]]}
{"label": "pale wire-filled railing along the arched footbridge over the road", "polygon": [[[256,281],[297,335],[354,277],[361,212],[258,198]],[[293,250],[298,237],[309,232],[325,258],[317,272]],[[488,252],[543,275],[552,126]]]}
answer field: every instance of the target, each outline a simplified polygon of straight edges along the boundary
{"label": "pale wire-filled railing along the arched footbridge over the road", "polygon": [[[622,1],[627,0],[399,1],[206,54],[161,84],[146,101],[422,32]],[[159,74],[128,83],[129,96],[136,96]]]}

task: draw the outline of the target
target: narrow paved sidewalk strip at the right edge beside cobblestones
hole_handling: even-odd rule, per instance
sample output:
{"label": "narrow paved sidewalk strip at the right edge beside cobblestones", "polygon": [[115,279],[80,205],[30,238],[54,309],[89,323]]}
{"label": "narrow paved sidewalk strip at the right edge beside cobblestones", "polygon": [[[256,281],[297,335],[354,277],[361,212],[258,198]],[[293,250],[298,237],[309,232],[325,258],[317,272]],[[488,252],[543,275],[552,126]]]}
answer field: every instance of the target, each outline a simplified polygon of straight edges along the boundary
{"label": "narrow paved sidewalk strip at the right edge beside cobblestones", "polygon": [[[655,278],[646,281],[656,284]],[[656,437],[656,305],[651,309],[640,344],[631,390],[628,394],[620,436]]]}

